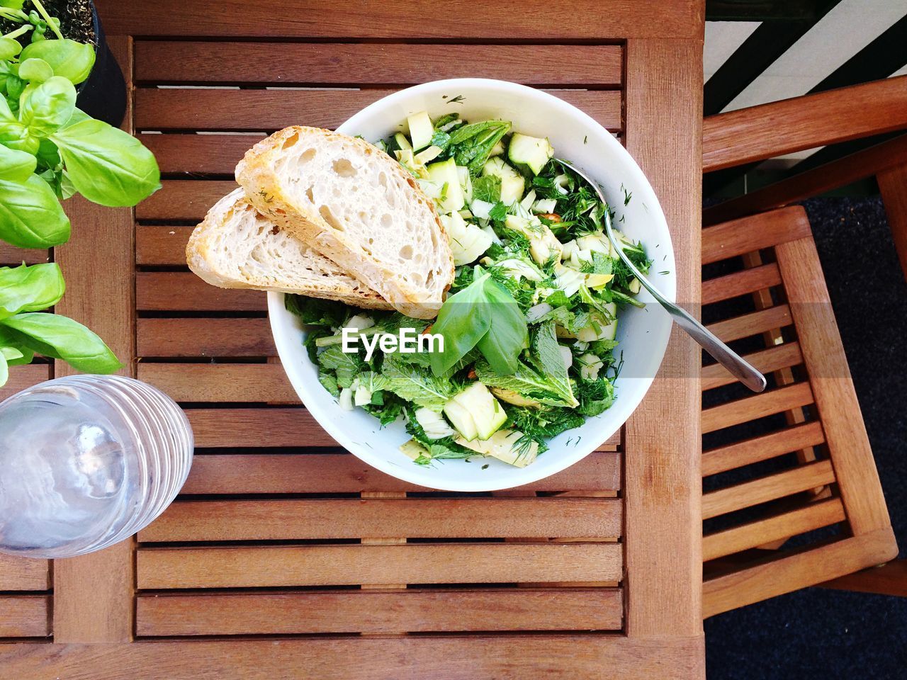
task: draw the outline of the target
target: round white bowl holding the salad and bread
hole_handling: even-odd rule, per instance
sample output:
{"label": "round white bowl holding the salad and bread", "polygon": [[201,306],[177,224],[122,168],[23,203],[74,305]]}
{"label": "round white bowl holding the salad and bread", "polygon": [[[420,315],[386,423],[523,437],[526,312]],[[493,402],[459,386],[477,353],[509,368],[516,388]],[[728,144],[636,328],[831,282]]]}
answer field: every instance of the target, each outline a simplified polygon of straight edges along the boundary
{"label": "round white bowl holding the salad and bread", "polygon": [[[450,102],[457,96],[458,102]],[[385,139],[399,131],[406,116],[420,111],[427,111],[433,119],[459,112],[467,121],[512,121],[515,131],[548,137],[558,157],[571,160],[600,182],[617,209],[615,226],[648,248],[649,257],[655,261],[652,282],[674,299],[674,250],[658,199],[629,153],[589,115],[530,87],[463,78],[424,83],[390,94],[356,113],[337,130],[360,134],[366,140]],[[624,189],[632,195],[626,207]],[[382,428],[362,409],[343,411],[318,383],[317,367],[302,345],[306,329],[284,308],[283,294],[268,293],[268,316],[290,383],[309,413],[341,446],[378,470],[414,484],[448,491],[493,491],[541,480],[569,467],[595,451],[627,421],[658,372],[671,328],[668,315],[645,291],[639,299],[650,303],[646,309],[629,307],[619,316],[617,338],[624,363],[616,383],[615,403],[582,427],[552,439],[549,451],[525,468],[493,459],[438,461],[431,467],[414,464],[397,450],[409,438],[403,423]],[[488,467],[483,470],[486,463]]]}

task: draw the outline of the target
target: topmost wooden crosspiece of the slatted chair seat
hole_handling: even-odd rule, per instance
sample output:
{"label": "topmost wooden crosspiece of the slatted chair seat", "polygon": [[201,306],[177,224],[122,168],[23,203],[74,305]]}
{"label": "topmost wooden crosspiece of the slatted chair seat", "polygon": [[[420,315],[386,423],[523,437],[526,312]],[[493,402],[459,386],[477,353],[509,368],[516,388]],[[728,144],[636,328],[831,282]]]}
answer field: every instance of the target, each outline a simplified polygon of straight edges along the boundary
{"label": "topmost wooden crosspiece of the slatted chair seat", "polygon": [[723,222],[702,230],[702,264],[771,248],[796,238],[807,238],[812,233],[802,206]]}

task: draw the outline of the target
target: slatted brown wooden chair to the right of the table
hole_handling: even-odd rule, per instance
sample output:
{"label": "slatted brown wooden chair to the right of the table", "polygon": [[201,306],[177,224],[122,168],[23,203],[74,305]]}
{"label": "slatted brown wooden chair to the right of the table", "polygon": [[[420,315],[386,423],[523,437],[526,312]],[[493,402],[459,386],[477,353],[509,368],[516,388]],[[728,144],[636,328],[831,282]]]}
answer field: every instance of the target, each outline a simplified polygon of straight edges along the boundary
{"label": "slatted brown wooden chair to the right of the table", "polygon": [[[707,118],[703,170],[905,128],[907,76],[808,95]],[[907,135],[703,213],[703,316],[769,377],[752,395],[702,369],[705,617],[897,556],[812,232],[792,205],[873,175],[907,271]],[[907,569],[893,564],[863,588],[832,587],[878,591],[900,575],[904,594]]]}

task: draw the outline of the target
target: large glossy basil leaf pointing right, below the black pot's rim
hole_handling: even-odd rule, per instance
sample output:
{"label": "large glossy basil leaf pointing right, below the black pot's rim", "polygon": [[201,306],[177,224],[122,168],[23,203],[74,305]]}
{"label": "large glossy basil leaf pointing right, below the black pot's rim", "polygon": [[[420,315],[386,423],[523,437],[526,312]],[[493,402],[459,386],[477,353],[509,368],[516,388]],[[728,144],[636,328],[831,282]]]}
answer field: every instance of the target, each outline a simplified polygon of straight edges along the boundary
{"label": "large glossy basil leaf pointing right, below the black pot's rim", "polygon": [[54,133],[66,173],[86,199],[102,206],[134,206],[161,188],[154,155],[131,134],[86,119]]}

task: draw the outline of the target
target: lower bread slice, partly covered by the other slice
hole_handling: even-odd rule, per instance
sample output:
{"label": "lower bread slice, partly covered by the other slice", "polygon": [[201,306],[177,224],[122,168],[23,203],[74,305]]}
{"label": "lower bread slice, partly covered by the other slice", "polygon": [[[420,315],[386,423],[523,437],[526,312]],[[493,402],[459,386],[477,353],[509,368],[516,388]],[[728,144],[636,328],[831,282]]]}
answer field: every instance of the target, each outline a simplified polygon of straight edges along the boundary
{"label": "lower bread slice, partly covered by the other slice", "polygon": [[212,286],[255,288],[393,309],[374,290],[258,213],[236,189],[193,229],[189,268]]}

